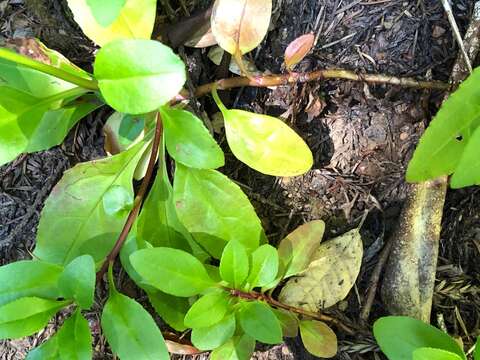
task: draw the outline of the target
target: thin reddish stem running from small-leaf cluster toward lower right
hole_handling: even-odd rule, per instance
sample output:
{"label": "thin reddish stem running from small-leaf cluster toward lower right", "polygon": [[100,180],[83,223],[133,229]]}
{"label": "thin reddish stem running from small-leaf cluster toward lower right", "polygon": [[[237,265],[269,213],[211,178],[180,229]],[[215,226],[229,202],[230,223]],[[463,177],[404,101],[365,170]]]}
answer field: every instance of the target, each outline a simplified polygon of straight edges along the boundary
{"label": "thin reddish stem running from small-leaf cluster toward lower right", "polygon": [[333,318],[331,316],[328,316],[328,315],[325,315],[325,314],[314,313],[314,312],[311,312],[311,311],[303,310],[301,308],[297,308],[295,306],[290,306],[290,305],[284,304],[284,303],[282,303],[278,300],[275,300],[270,295],[258,293],[258,292],[255,292],[255,291],[244,292],[244,291],[241,291],[241,290],[229,289],[229,288],[225,288],[225,290],[228,291],[230,293],[230,295],[236,296],[236,297],[241,298],[241,299],[265,301],[268,304],[270,304],[270,305],[272,305],[276,308],[279,308],[279,309],[283,309],[283,310],[287,310],[287,311],[290,311],[290,312],[293,312],[293,313],[296,313],[296,314],[307,316],[309,318],[312,318],[312,319],[315,319],[315,320],[318,320],[318,321],[330,322],[332,324],[335,324],[336,326],[338,326],[339,328],[341,328],[342,330],[344,330],[348,334],[350,334],[350,335],[354,334],[352,329],[350,329],[345,324],[342,324],[338,319],[335,319],[335,318]]}

